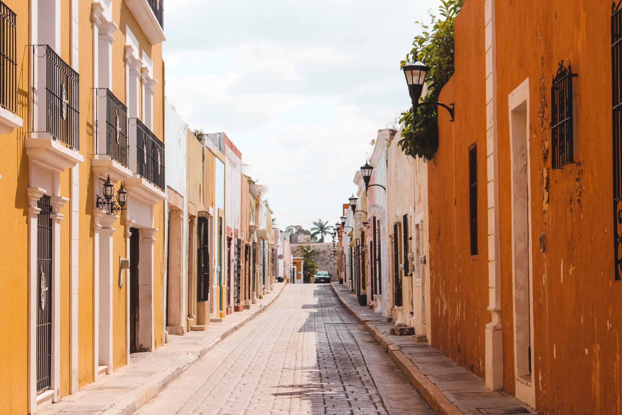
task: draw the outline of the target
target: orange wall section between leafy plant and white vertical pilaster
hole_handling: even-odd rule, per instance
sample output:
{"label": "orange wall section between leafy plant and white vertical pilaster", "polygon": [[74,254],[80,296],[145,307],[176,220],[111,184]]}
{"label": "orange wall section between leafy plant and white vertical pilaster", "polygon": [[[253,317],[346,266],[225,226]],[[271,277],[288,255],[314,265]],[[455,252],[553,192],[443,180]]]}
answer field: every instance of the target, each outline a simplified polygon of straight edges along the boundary
{"label": "orange wall section between leafy plant and white vertical pilaster", "polygon": [[[434,347],[485,373],[488,307],[484,2],[467,0],[455,19],[456,72],[440,94],[439,149],[428,162],[430,297]],[[459,35],[462,34],[462,35]],[[480,76],[481,75],[481,76]],[[468,147],[477,142],[478,256],[470,255]]]}

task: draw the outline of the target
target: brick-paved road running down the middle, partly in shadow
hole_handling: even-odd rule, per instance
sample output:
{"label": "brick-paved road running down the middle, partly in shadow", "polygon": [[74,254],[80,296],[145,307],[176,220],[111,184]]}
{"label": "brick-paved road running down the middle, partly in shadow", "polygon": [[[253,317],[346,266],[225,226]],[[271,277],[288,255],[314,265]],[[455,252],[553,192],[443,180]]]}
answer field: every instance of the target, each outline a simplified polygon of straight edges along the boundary
{"label": "brick-paved road running down the middle, partly in shadow", "polygon": [[434,412],[330,286],[300,284],[135,414]]}

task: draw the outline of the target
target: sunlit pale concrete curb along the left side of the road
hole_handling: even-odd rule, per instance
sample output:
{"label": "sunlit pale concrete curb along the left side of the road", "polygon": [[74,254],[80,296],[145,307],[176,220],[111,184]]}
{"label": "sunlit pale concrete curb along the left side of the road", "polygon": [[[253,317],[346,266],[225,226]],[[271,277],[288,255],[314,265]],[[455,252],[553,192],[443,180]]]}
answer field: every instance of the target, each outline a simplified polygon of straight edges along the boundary
{"label": "sunlit pale concrete curb along the left side of the road", "polygon": [[203,347],[195,348],[194,350],[188,352],[189,359],[183,365],[177,366],[172,371],[162,371],[162,373],[160,373],[159,376],[156,376],[156,378],[154,378],[152,382],[144,385],[141,389],[139,389],[139,393],[134,394],[134,396],[128,397],[114,404],[114,406],[104,411],[102,415],[130,415],[134,411],[137,411],[137,409],[141,408],[141,406],[151,401],[151,399],[154,398],[154,396],[156,396],[158,393],[160,393],[162,389],[168,386],[169,383],[178,378],[185,370],[187,370],[187,368],[195,363],[195,361],[203,357],[205,353],[209,352],[216,345],[218,345],[218,343],[225,340],[225,338],[229,337],[232,333],[241,329],[244,324],[248,323],[250,320],[253,320],[259,315],[259,313],[264,312],[264,310],[266,310],[269,305],[274,303],[274,301],[276,301],[276,299],[281,296],[281,292],[283,292],[286,286],[287,284],[284,284],[281,290],[276,294],[273,299],[271,299],[266,304],[262,304],[259,309],[254,310],[254,312],[247,315],[244,320],[231,327],[231,329],[226,330],[226,332],[222,333],[219,337],[217,337],[215,341],[209,342]]}

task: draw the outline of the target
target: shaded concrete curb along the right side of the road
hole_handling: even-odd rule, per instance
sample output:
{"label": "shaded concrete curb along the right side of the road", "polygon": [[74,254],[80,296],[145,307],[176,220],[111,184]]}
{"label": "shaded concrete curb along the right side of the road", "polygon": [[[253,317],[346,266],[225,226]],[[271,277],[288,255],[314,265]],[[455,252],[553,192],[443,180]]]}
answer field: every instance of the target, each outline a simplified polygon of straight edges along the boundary
{"label": "shaded concrete curb along the right side of the road", "polygon": [[417,366],[412,363],[409,358],[407,358],[404,353],[402,353],[401,348],[393,343],[391,339],[385,335],[381,330],[379,330],[375,325],[371,324],[369,320],[363,319],[358,312],[356,312],[350,304],[347,304],[343,298],[341,298],[337,288],[330,284],[333,287],[333,291],[337,294],[337,298],[343,304],[343,307],[346,308],[352,314],[358,322],[360,322],[365,330],[367,330],[373,337],[376,339],[378,343],[384,348],[384,351],[388,353],[391,360],[395,362],[397,367],[404,373],[406,378],[412,383],[412,385],[417,388],[419,393],[424,397],[425,401],[430,405],[430,407],[434,410],[435,413],[439,415],[464,415],[457,406],[455,406],[445,394],[437,388],[431,380],[427,378]]}

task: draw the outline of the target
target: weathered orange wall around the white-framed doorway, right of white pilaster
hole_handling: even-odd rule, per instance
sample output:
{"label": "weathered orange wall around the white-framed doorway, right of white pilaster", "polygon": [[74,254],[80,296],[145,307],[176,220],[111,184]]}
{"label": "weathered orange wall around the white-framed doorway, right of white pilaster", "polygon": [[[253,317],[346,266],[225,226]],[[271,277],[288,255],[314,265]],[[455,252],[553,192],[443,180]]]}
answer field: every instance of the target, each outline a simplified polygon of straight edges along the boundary
{"label": "weathered orange wall around the white-framed doorway, right of white pilaster", "polygon": [[[611,1],[497,2],[499,203],[504,387],[511,345],[508,94],[529,78],[536,409],[619,413],[622,285],[614,281]],[[521,33],[521,42],[516,34]],[[575,164],[551,169],[550,86],[561,60],[578,73]],[[502,64],[501,64],[502,62]],[[547,179],[545,179],[547,177]],[[548,202],[548,203],[546,203]],[[544,233],[547,248],[539,249]]]}

